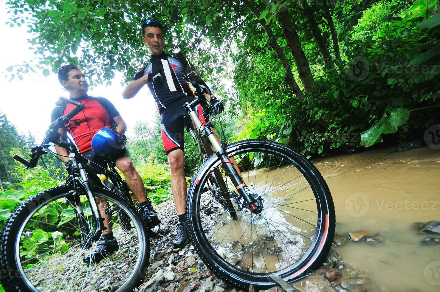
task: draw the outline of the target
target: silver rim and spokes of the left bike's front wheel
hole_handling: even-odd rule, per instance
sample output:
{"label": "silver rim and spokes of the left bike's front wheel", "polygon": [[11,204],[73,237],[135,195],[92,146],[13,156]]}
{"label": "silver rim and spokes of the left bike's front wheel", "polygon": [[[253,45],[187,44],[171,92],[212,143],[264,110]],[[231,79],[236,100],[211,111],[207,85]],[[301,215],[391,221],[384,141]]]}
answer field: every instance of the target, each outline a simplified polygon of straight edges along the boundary
{"label": "silver rim and spokes of the left bike's front wheel", "polygon": [[[15,259],[22,280],[32,291],[124,291],[139,279],[145,263],[148,244],[143,226],[132,208],[116,195],[95,192],[98,204],[106,210],[110,227],[119,248],[97,262],[84,263],[84,256],[97,251],[99,242],[81,249],[83,236],[69,193],[52,196],[39,208],[29,212],[18,230]],[[83,211],[85,222],[95,231],[95,221],[85,195],[79,195],[77,210]],[[79,202],[79,204],[78,204]],[[81,208],[78,208],[81,205]],[[117,213],[124,212],[134,228],[125,231],[118,223]],[[111,219],[110,219],[111,218]]]}

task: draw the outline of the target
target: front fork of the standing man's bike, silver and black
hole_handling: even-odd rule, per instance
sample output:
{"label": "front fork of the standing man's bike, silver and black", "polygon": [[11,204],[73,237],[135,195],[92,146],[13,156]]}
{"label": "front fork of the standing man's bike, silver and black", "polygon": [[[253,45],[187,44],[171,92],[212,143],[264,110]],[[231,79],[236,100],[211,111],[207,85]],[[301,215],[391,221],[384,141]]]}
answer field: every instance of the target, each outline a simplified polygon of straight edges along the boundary
{"label": "front fork of the standing man's bike, silver and black", "polygon": [[198,134],[201,136],[207,136],[209,142],[211,142],[211,145],[213,146],[217,157],[220,158],[221,165],[231,179],[240,196],[244,199],[244,202],[245,204],[247,204],[249,210],[255,214],[260,213],[263,210],[263,203],[253,197],[253,193],[249,190],[249,187],[246,186],[246,183],[244,183],[242,177],[238,175],[234,164],[227,157],[226,151],[217,141],[216,136],[214,135],[213,131],[211,131],[211,128],[209,128],[208,126],[204,127],[202,125],[202,122],[199,120],[198,115],[194,109],[191,108],[191,110],[188,109],[188,111],[191,120],[194,122],[196,129],[198,129]]}

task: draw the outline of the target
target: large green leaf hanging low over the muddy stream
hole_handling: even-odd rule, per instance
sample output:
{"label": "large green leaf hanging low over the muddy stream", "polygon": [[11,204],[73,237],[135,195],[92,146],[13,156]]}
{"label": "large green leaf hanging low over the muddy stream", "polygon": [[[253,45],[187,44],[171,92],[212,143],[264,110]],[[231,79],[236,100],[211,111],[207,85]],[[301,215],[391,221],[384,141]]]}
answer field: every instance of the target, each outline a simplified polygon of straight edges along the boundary
{"label": "large green leaf hanging low over the muddy stream", "polygon": [[360,144],[368,147],[381,142],[381,134],[396,133],[397,127],[405,124],[409,117],[410,112],[403,107],[391,109],[388,114],[385,112],[377,124],[361,133]]}

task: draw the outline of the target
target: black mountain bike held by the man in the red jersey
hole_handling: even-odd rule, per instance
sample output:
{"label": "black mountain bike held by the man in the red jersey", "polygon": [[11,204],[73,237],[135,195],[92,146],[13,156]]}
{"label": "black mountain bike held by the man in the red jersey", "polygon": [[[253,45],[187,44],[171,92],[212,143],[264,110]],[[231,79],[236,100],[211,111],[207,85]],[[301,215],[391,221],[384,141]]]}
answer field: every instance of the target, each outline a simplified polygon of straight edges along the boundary
{"label": "black mountain bike held by the man in the red jersey", "polygon": [[[0,265],[7,274],[0,281],[7,291],[132,290],[149,264],[148,233],[158,230],[144,225],[113,164],[104,169],[82,157],[70,140],[59,141],[58,129],[85,107],[60,99],[76,107],[49,126],[41,145],[32,149],[30,161],[14,158],[34,168],[55,143],[66,148],[72,170],[63,185],[30,197],[5,223]],[[112,190],[98,175],[113,182]],[[84,257],[96,251],[103,231],[110,228],[119,249],[98,263],[86,262]]]}

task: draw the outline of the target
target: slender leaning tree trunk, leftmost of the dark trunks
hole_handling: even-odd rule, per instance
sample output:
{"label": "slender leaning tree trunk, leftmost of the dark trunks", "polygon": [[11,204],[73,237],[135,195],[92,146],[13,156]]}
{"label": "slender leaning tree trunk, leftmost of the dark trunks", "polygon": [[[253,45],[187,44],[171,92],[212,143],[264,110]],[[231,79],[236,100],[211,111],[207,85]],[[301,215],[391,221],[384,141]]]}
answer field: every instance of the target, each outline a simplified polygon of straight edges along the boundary
{"label": "slender leaning tree trunk, leftmost of the dark trunks", "polygon": [[[253,15],[255,15],[257,19],[260,17],[261,11],[255,7],[254,5],[255,3],[251,3],[249,0],[243,0],[243,3],[249,8],[249,10],[253,13]],[[290,64],[289,61],[287,61],[286,55],[284,55],[284,52],[279,46],[271,29],[268,26],[266,26],[266,21],[262,19],[262,20],[257,20],[257,22],[259,22],[261,26],[263,26],[264,30],[268,34],[269,43],[277,53],[278,58],[280,59],[282,66],[284,67],[284,71],[286,71],[286,82],[289,85],[290,90],[297,96],[300,104],[304,105],[306,103],[304,93],[301,91],[297,82],[295,81],[295,78],[293,77],[292,69],[290,69]]]}

